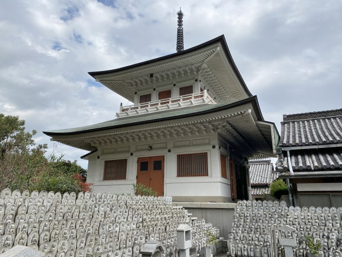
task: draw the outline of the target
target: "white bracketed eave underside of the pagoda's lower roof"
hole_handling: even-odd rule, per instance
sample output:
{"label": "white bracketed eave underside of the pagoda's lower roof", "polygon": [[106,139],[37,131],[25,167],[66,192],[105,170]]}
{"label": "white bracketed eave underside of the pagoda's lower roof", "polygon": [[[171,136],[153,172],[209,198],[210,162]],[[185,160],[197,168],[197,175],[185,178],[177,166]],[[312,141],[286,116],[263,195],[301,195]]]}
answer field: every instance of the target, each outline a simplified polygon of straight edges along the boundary
{"label": "white bracketed eave underside of the pagoda's lower roof", "polygon": [[[248,156],[254,156],[255,158],[269,158],[274,156],[275,152],[272,147],[274,140],[272,140],[272,137],[277,136],[277,133],[276,135],[273,133],[273,123],[265,127],[268,127],[268,131],[265,129],[260,131],[257,127],[255,119],[259,119],[261,116],[259,115],[256,97],[250,97],[248,100],[243,100],[239,103],[218,105],[217,107],[211,105],[208,107],[210,107],[209,110],[195,113],[192,112],[189,113],[189,115],[171,116],[169,118],[167,118],[168,116],[163,115],[163,117],[159,118],[160,115],[158,114],[158,118],[140,118],[140,122],[126,123],[121,124],[120,126],[103,126],[92,129],[89,129],[91,126],[88,126],[86,130],[83,130],[84,127],[82,127],[82,129],[78,131],[77,129],[72,129],[74,131],[54,131],[44,132],[44,134],[51,136],[53,138],[52,140],[59,141],[66,145],[93,151],[96,150],[98,146],[101,146],[102,143],[108,144],[108,142],[110,142],[110,144],[117,144],[125,142],[125,140],[127,142],[139,140],[139,134],[142,132],[145,134],[146,132],[150,133],[153,135],[151,138],[155,138],[159,134],[165,133],[166,130],[172,129],[173,125],[177,127],[177,130],[179,130],[179,128],[184,129],[183,134],[186,136],[187,133],[189,133],[189,131],[186,131],[187,128],[190,128],[190,126],[193,125],[202,126],[204,124],[206,129],[209,129],[209,132],[218,129],[220,131],[219,134],[223,133],[223,136],[227,135],[227,133],[229,135],[234,135],[237,145],[243,144],[242,146],[245,145],[244,147],[249,149],[250,154]],[[172,123],[170,123],[171,120]],[[105,123],[107,125],[110,121]],[[250,124],[250,126],[246,126],[246,123]],[[100,123],[100,125],[102,124],[103,123]],[[216,124],[221,125],[219,125],[220,127],[217,127]],[[155,135],[156,131],[158,131],[157,135]],[[174,135],[171,134],[171,137],[173,136]],[[124,138],[124,140],[122,141],[120,138]]]}

